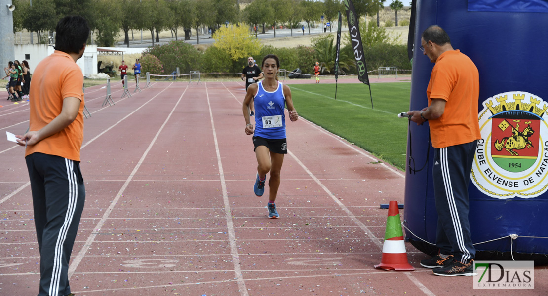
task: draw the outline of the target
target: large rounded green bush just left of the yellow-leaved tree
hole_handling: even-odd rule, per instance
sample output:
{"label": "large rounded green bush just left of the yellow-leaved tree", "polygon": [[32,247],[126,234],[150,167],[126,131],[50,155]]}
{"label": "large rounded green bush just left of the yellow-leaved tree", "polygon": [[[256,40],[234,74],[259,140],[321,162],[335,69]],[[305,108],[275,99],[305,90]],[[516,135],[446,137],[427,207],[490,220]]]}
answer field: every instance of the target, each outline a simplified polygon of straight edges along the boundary
{"label": "large rounded green bush just left of the yellow-leaved tree", "polygon": [[172,41],[145,50],[145,54],[155,55],[164,65],[165,73],[169,74],[179,67],[180,73],[197,70],[202,54],[191,44],[184,41]]}

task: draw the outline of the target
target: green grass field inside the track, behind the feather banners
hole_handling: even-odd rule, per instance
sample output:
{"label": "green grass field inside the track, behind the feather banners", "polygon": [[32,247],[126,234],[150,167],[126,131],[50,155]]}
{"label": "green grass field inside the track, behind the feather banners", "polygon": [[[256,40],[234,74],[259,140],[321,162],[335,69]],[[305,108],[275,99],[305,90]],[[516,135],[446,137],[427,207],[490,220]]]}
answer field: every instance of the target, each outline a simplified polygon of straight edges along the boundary
{"label": "green grass field inside the track, behind the feather banners", "polygon": [[404,170],[411,83],[290,85],[299,115]]}

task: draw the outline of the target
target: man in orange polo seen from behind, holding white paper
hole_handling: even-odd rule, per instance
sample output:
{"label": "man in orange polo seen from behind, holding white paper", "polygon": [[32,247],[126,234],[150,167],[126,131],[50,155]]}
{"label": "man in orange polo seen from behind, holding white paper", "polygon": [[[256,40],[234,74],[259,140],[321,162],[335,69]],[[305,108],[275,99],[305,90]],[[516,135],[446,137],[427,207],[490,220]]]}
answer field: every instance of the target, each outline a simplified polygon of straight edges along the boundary
{"label": "man in orange polo seen from behind, holding white paper", "polygon": [[40,251],[38,296],[73,295],[68,261],[84,208],[80,171],[84,121],[84,82],[76,61],[90,32],[81,16],[67,16],[55,27],[55,51],[32,76],[30,131],[17,136],[25,160]]}

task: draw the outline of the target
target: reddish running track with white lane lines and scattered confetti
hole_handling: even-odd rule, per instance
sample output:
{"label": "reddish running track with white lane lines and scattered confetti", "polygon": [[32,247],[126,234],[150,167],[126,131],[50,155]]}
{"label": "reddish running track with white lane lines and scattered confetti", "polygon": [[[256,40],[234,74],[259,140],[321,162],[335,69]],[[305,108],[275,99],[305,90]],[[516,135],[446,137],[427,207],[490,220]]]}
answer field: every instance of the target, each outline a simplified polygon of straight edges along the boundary
{"label": "reddish running track with white lane lines and scattered confetti", "polygon": [[[154,83],[123,99],[116,83],[116,105],[106,107],[101,87],[86,90],[87,196],[69,270],[73,293],[516,295],[473,289],[472,277],[433,276],[420,268],[426,255],[408,243],[415,271],[374,269],[387,214],[379,204],[403,202],[404,173],[302,118],[288,123],[281,218],[268,219],[267,196],[252,191],[243,83]],[[1,130],[22,134],[27,126],[27,105],[0,108]],[[0,142],[1,295],[38,291],[23,155]],[[546,275],[535,269],[537,288],[520,295],[544,293]]]}

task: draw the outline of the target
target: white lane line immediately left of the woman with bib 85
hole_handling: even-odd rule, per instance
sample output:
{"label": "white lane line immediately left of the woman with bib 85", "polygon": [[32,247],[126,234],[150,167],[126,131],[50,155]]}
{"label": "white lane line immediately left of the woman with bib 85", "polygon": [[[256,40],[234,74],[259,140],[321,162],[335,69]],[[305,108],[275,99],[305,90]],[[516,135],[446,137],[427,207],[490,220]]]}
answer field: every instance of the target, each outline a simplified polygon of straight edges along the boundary
{"label": "white lane line immediately left of the woman with bib 85", "polygon": [[221,153],[219,152],[219,143],[217,141],[217,134],[215,132],[215,123],[213,121],[213,111],[211,109],[211,103],[209,101],[209,91],[207,89],[207,83],[204,83],[204,86],[206,86],[207,104],[209,106],[209,117],[211,118],[213,140],[215,141],[215,153],[217,154],[219,176],[221,177],[222,201],[225,204],[225,218],[226,218],[226,228],[227,228],[226,231],[229,235],[230,253],[232,255],[232,265],[234,266],[234,272],[236,273],[236,280],[238,282],[238,288],[240,290],[240,294],[243,296],[248,296],[249,294],[247,293],[246,282],[244,282],[242,270],[240,268],[238,246],[236,245],[236,234],[234,233],[234,225],[232,224],[232,216],[230,214],[230,202],[229,202],[229,196],[226,192],[225,173],[222,170]]}

